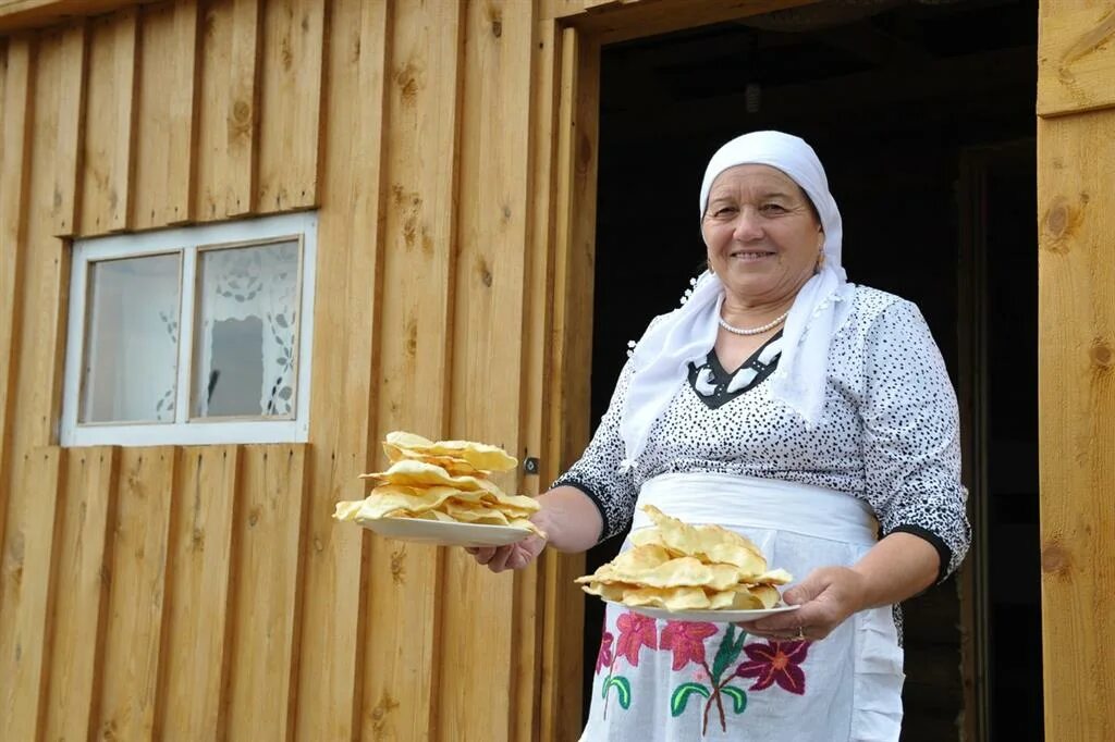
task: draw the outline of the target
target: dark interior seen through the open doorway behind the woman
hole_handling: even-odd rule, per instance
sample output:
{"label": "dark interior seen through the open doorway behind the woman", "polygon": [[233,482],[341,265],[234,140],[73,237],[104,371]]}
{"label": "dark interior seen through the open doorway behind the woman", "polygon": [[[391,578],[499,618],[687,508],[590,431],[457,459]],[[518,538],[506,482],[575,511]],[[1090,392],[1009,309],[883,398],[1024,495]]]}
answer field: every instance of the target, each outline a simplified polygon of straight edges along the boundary
{"label": "dark interior seen through the open doorway behind the woman", "polygon": [[[593,423],[628,340],[677,306],[704,261],[698,192],[709,156],[747,130],[804,137],[843,213],[850,280],[915,302],[954,383],[969,362],[990,379],[979,401],[988,487],[973,497],[988,514],[976,538],[990,570],[991,740],[1043,738],[1036,41],[1036,0],[833,1],[607,47],[601,67]],[[983,189],[964,179],[961,164],[973,160]],[[972,233],[964,213],[985,238],[962,238]],[[986,261],[983,361],[959,353],[971,322],[960,310],[962,251]],[[620,541],[593,549],[589,569]],[[903,740],[956,740],[966,713],[956,579],[905,612]],[[601,622],[601,602],[586,599],[585,711]]]}

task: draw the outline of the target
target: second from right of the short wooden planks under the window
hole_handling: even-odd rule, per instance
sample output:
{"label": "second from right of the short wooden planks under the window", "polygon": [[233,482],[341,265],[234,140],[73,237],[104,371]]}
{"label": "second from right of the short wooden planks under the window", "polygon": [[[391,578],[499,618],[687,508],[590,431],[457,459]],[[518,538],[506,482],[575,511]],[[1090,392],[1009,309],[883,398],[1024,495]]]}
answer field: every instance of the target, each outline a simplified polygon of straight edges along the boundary
{"label": "second from right of the short wooden planks under the window", "polygon": [[182,450],[171,518],[165,660],[159,667],[155,739],[220,739],[221,686],[232,647],[225,644],[232,524],[236,511],[236,446]]}

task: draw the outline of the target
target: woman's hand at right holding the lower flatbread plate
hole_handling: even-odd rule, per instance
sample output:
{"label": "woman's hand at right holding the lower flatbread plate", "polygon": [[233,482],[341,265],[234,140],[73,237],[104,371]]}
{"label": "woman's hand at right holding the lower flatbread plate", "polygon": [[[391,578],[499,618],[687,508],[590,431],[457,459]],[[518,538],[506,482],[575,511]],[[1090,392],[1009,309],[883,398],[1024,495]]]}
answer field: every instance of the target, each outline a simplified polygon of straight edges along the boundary
{"label": "woman's hand at right holding the lower flatbread plate", "polygon": [[741,622],[749,634],[780,641],[816,641],[828,636],[857,611],[867,607],[866,577],[850,567],[821,567],[783,594],[797,611]]}

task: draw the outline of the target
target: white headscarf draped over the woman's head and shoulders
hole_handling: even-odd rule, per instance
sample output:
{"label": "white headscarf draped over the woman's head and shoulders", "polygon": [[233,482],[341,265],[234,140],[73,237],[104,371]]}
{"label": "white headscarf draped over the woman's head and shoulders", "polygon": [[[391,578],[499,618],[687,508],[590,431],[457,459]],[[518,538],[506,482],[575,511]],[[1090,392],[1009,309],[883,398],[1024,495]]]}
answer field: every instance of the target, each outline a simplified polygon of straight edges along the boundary
{"label": "white headscarf draped over the woman's head and shoulders", "polygon": [[[825,404],[828,346],[851,310],[853,286],[841,266],[843,226],[828,179],[813,148],[780,131],[753,131],[720,147],[705,170],[700,188],[704,218],[716,176],[736,165],[769,165],[789,176],[809,196],[825,233],[824,267],[805,282],[786,318],[782,358],[772,375],[775,399],[789,406],[807,426],[821,420]],[[705,272],[680,309],[655,322],[636,345],[634,373],[620,420],[627,469],[642,453],[655,420],[716,343],[724,284]]]}

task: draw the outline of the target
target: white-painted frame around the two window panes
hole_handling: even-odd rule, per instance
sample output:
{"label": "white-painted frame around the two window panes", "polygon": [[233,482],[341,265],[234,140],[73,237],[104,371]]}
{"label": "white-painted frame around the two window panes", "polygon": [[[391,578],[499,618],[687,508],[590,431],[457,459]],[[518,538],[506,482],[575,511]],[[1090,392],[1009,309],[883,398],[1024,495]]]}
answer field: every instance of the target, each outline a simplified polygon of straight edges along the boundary
{"label": "white-painted frame around the two window panes", "polygon": [[[214,418],[190,420],[197,253],[209,247],[237,243],[298,240],[301,266],[298,320],[298,384],[293,418],[274,420]],[[104,260],[181,253],[178,371],[174,422],[78,423],[81,365],[85,358],[86,305],[89,263]],[[70,261],[66,372],[59,442],[76,446],[167,446],[206,443],[289,443],[310,438],[311,354],[313,348],[313,296],[318,255],[318,215],[313,212],[281,214],[239,222],[178,227],[142,234],[118,234],[75,240]]]}

